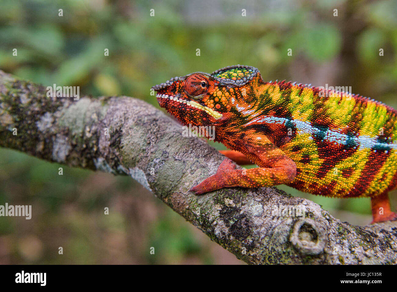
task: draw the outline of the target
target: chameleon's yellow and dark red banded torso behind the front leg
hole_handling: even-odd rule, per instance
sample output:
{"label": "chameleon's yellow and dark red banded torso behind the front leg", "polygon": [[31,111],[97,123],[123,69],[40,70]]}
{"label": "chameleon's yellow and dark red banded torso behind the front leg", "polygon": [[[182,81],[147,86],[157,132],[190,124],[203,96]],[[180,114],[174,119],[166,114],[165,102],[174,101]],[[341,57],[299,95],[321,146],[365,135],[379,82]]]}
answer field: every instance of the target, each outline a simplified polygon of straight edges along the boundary
{"label": "chameleon's yellow and dark red banded torso behind the front leg", "polygon": [[337,197],[376,196],[396,187],[395,109],[344,92],[283,82],[264,86],[272,104],[289,109],[273,121],[285,119],[289,138],[275,142],[297,165],[290,186]]}

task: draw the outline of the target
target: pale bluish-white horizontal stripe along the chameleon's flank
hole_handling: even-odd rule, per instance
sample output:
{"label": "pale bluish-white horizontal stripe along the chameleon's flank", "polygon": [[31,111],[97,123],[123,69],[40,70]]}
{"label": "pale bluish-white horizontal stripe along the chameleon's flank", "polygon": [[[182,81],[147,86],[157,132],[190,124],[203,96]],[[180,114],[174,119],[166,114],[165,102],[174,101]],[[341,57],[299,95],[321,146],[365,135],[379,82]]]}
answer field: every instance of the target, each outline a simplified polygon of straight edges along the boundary
{"label": "pale bluish-white horizontal stripe along the chameleon's flank", "polygon": [[[309,122],[304,122],[299,120],[289,120],[283,117],[264,117],[264,116],[257,117],[252,121],[250,121],[249,123],[247,123],[247,125],[251,123],[277,123],[277,124],[285,125],[285,123],[287,122],[291,122],[293,125],[295,125],[295,128],[297,129],[297,132],[299,134],[310,134],[313,136],[314,134],[321,133],[321,129],[312,126]],[[374,147],[388,147],[392,149],[397,149],[397,141],[393,141],[392,144],[380,143],[377,141],[377,138],[378,136],[349,137],[346,134],[342,134],[337,131],[331,131],[330,129],[328,129],[325,132],[325,136],[324,136],[324,140],[335,142],[341,145],[346,145],[350,140],[351,142],[356,144],[360,150],[365,148],[370,149]]]}

